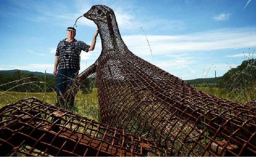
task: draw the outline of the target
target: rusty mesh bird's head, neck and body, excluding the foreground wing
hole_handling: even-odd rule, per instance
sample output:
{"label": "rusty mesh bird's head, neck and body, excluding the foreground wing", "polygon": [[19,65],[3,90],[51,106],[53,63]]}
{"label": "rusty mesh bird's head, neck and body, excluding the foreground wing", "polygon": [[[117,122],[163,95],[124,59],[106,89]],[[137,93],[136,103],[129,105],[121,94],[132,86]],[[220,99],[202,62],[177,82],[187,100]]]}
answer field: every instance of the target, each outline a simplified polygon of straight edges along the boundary
{"label": "rusty mesh bird's head, neck and body, excluding the foreground wing", "polygon": [[109,7],[94,5],[84,16],[100,29],[102,52],[78,80],[96,77],[103,123],[164,145],[172,156],[256,155],[255,105],[200,92],[135,56]]}

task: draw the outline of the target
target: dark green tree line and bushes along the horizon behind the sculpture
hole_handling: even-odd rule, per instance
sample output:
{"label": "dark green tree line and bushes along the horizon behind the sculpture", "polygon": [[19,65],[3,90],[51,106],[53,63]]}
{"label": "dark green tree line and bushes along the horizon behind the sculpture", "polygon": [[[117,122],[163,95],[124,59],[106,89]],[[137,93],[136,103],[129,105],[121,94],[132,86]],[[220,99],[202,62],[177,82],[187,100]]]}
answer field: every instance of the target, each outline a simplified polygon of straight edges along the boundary
{"label": "dark green tree line and bushes along the horizon behind the sculpture", "polygon": [[[45,79],[46,77],[46,79]],[[223,76],[216,78],[199,78],[186,80],[195,87],[219,87],[233,92],[241,90],[256,89],[256,59],[244,60],[241,65],[228,70]],[[35,76],[17,70],[13,74],[1,73],[0,90],[16,92],[46,92],[56,90],[56,79],[54,76]],[[90,93],[96,88],[96,79],[88,79],[83,83],[83,92]]]}

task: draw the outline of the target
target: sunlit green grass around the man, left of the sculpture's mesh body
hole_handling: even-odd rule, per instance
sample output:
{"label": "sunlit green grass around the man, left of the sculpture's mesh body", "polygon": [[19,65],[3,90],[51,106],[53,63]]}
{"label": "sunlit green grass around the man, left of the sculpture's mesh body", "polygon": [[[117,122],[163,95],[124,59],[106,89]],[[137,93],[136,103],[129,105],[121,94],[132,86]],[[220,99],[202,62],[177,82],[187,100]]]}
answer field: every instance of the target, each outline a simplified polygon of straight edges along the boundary
{"label": "sunlit green grass around the man, left of the sculpture's mesh body", "polygon": [[[0,91],[0,108],[7,104],[15,103],[27,97],[36,97],[41,101],[45,99],[44,92],[30,93],[30,92],[4,92]],[[55,105],[57,101],[56,92],[46,92],[46,102]],[[83,115],[89,119],[100,121],[100,107],[98,103],[97,88],[93,88],[91,94],[83,94],[78,91],[75,96],[74,106],[70,108],[71,112]]]}

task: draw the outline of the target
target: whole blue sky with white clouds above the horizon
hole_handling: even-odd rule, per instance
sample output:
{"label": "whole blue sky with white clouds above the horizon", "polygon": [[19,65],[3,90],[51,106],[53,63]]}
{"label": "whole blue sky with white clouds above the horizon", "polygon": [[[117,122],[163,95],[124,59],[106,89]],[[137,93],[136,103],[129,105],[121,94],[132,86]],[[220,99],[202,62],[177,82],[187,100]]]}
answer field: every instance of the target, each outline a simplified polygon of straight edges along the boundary
{"label": "whole blue sky with white clouds above the horizon", "polygon": [[[222,76],[255,56],[256,0],[1,0],[0,70],[52,73],[58,42],[92,5],[113,9],[137,56],[182,79]],[[91,44],[95,23],[82,17],[76,39]],[[147,35],[150,48],[143,30]],[[82,52],[85,70],[101,52]]]}

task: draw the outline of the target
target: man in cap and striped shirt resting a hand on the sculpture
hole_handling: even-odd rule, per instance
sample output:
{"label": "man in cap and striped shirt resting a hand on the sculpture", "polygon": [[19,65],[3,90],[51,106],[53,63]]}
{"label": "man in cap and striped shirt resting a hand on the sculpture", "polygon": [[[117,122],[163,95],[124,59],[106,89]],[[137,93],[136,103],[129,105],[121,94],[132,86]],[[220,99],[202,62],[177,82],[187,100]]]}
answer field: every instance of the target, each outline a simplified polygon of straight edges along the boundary
{"label": "man in cap and striped shirt resting a hand on the sculpture", "polygon": [[[61,99],[67,86],[72,82],[75,75],[80,70],[80,52],[93,51],[95,48],[98,30],[93,36],[91,45],[76,40],[76,29],[74,27],[67,28],[67,38],[61,40],[58,44],[55,54],[55,63],[53,74],[56,77],[56,90],[58,99]],[[57,69],[58,67],[58,69]],[[74,97],[70,100],[70,105],[74,105]]]}

